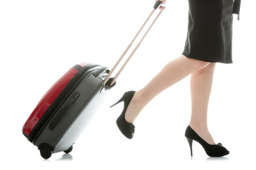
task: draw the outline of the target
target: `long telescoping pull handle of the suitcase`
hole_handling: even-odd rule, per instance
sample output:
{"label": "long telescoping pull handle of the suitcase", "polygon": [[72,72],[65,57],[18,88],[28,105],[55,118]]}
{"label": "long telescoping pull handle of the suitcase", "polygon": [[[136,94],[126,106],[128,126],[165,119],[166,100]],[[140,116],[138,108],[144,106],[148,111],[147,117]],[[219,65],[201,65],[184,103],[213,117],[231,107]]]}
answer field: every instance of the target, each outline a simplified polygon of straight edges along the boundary
{"label": "long telescoping pull handle of the suitcase", "polygon": [[120,70],[118,71],[118,73],[116,74],[115,78],[109,78],[111,76],[111,74],[115,71],[116,67],[118,66],[118,64],[120,63],[120,61],[123,59],[125,53],[127,53],[127,51],[129,50],[129,48],[132,46],[132,43],[134,42],[134,40],[137,38],[138,34],[140,34],[141,30],[143,29],[143,27],[145,26],[145,24],[148,22],[149,18],[152,16],[152,14],[154,13],[154,11],[157,10],[157,8],[159,6],[163,6],[162,5],[162,1],[157,1],[156,4],[154,5],[154,10],[152,10],[152,12],[150,13],[150,15],[148,16],[147,20],[144,22],[144,24],[141,26],[140,30],[138,31],[138,33],[136,34],[136,36],[132,39],[131,43],[127,46],[127,48],[125,49],[124,53],[122,53],[121,57],[118,59],[118,61],[116,62],[115,66],[113,66],[113,68],[111,69],[111,71],[109,72],[109,74],[106,76],[106,78],[104,79],[104,83],[107,87],[111,87],[115,81],[116,78],[120,75],[120,73],[122,72],[122,70],[124,69],[124,67],[126,66],[127,62],[129,62],[129,60],[131,59],[132,55],[136,52],[136,50],[138,49],[138,47],[140,46],[141,42],[143,41],[143,39],[145,38],[145,36],[147,35],[148,31],[151,29],[152,25],[154,25],[154,23],[156,22],[157,18],[159,17],[159,15],[162,13],[162,11],[164,10],[164,6],[163,9],[159,11],[158,15],[156,16],[156,18],[154,19],[154,21],[152,22],[152,24],[150,25],[150,27],[148,28],[147,32],[145,32],[143,38],[141,38],[140,42],[138,43],[138,45],[134,48],[134,50],[132,51],[131,55],[129,55],[128,59],[125,61],[125,63],[123,64],[123,66],[120,68]]}

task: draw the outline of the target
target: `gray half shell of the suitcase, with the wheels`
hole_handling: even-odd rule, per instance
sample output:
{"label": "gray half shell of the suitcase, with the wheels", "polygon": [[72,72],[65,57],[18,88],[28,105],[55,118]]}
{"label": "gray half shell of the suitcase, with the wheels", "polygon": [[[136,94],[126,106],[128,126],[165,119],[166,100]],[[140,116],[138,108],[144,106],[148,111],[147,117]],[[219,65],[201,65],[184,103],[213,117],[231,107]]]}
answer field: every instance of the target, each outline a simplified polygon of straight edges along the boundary
{"label": "gray half shell of the suitcase, with the wheels", "polygon": [[109,69],[99,74],[100,69],[102,71],[102,67],[96,66],[84,73],[85,78],[36,136],[33,143],[45,159],[51,157],[51,153],[71,152],[72,145],[104,102],[107,92],[103,80]]}

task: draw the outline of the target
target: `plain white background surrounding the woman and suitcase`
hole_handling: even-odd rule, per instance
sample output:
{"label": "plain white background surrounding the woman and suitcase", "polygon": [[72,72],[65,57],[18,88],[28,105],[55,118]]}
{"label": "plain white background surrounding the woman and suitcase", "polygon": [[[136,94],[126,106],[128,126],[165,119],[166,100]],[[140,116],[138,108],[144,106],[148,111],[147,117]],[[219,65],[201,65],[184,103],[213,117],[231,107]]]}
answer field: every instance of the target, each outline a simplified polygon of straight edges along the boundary
{"label": "plain white background surrounding the woman and suitcase", "polygon": [[254,0],[242,1],[239,21],[234,15],[234,63],[216,64],[209,101],[209,131],[229,155],[208,157],[194,141],[190,157],[184,137],[191,113],[190,75],[148,103],[134,122],[131,140],[115,124],[123,103],[109,108],[124,92],[141,89],[167,62],[180,56],[186,40],[188,1],[166,1],[166,9],[70,154],[55,153],[44,160],[22,135],[22,126],[38,101],[70,67],[81,62],[113,67],[154,4],[154,0],[0,2],[0,169],[255,168]]}

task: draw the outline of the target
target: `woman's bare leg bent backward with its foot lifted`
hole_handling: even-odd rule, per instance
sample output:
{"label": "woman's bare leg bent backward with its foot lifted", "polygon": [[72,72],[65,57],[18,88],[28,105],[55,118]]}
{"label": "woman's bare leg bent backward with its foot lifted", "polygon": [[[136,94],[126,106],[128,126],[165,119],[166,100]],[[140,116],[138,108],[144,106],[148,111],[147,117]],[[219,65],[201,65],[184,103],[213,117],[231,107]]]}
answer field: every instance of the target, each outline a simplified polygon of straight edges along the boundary
{"label": "woman's bare leg bent backward with its foot lifted", "polygon": [[125,120],[129,123],[134,122],[140,111],[157,94],[208,64],[210,62],[188,58],[184,55],[168,62],[145,87],[135,92],[125,112]]}

